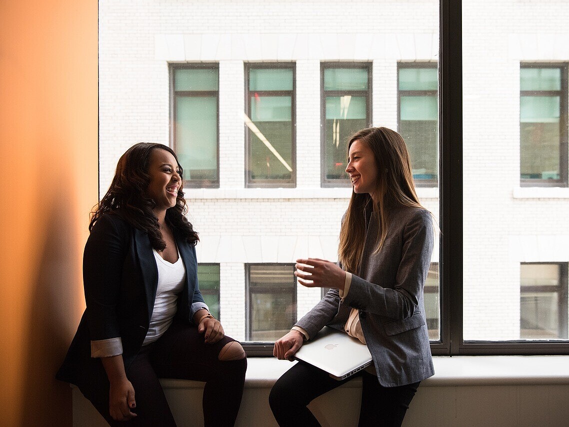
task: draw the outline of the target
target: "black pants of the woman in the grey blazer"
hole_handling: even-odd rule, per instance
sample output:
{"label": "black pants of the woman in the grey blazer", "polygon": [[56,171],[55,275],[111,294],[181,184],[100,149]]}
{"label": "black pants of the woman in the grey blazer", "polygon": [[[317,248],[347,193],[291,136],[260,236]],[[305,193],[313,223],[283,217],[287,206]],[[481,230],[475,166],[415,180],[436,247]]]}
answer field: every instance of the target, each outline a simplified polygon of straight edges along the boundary
{"label": "black pants of the woman in the grey blazer", "polygon": [[356,376],[362,377],[359,426],[401,426],[405,412],[417,392],[419,383],[400,387],[382,387],[377,377],[361,371],[343,381],[332,379],[328,373],[303,362],[288,369],[275,383],[269,404],[279,426],[319,426],[307,408],[312,400]]}

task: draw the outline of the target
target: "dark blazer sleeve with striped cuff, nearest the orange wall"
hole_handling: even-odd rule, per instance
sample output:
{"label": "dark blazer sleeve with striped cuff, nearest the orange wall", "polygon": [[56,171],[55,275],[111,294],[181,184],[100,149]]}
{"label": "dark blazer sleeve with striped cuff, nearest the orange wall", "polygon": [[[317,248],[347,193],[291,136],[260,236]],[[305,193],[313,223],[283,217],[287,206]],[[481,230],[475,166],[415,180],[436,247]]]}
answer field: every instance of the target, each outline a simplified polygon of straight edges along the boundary
{"label": "dark blazer sleeve with striped cuff, nearest the orange wall", "polygon": [[[115,347],[115,353],[122,353],[116,306],[128,242],[129,231],[122,221],[102,215],[85,244],[83,285],[93,357],[113,355],[104,354],[109,346]],[[100,354],[93,352],[93,344]]]}

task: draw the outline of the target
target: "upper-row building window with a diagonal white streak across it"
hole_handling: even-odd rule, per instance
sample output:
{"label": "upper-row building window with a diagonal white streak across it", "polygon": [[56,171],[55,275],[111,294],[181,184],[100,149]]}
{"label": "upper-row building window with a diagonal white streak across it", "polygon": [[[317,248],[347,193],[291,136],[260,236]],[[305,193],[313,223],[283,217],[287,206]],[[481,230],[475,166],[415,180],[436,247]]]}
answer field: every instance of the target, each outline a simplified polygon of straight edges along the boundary
{"label": "upper-row building window with a diagonal white streak across it", "polygon": [[246,185],[295,186],[295,67],[246,64]]}

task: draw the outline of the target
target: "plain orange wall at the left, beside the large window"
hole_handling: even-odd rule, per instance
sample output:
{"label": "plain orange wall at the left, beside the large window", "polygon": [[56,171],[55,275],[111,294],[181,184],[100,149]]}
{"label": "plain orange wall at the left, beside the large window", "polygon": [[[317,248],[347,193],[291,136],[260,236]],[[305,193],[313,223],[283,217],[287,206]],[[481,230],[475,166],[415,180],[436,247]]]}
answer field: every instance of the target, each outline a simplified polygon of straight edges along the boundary
{"label": "plain orange wall at the left, beside the large window", "polygon": [[53,378],[97,202],[97,2],[0,1],[0,425],[71,425]]}

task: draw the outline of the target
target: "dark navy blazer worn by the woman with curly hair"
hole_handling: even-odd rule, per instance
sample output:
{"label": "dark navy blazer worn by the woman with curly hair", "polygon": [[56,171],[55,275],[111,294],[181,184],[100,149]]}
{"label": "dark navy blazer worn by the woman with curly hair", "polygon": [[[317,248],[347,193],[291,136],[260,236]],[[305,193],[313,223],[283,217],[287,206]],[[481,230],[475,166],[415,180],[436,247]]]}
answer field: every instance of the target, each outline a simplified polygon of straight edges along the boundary
{"label": "dark navy blazer worn by the woman with curly hair", "polygon": [[[196,249],[176,230],[174,236],[186,272],[176,320],[190,323],[192,304],[204,302],[197,283]],[[89,397],[108,387],[101,360],[91,357],[90,342],[120,337],[127,369],[149,329],[158,267],[148,235],[118,213],[102,215],[85,244],[83,285],[86,309],[56,377],[76,384]]]}

